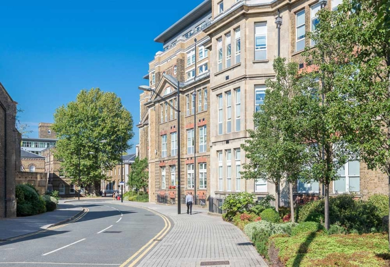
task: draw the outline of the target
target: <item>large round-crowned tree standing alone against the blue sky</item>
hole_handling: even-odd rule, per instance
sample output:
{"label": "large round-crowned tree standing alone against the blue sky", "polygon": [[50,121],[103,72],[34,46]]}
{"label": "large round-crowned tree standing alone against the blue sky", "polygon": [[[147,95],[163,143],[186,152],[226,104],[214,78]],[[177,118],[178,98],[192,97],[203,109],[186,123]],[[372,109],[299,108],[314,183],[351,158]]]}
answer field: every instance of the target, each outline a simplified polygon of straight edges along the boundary
{"label": "large round-crowned tree standing alone against the blue sky", "polygon": [[80,171],[81,183],[90,186],[90,193],[98,193],[100,180],[107,179],[105,172],[130,148],[132,127],[131,114],[115,93],[81,90],[75,101],[54,114],[53,130],[58,138],[54,155],[63,160],[65,175],[73,183]]}

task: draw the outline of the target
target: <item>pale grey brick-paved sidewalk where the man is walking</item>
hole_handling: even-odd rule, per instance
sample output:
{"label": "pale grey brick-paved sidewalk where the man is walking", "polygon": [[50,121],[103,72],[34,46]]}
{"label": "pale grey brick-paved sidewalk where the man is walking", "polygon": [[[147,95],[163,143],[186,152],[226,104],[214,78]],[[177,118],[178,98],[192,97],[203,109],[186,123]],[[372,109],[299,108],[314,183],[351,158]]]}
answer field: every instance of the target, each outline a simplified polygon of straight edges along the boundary
{"label": "pale grey brick-paved sidewalk where the man is walking", "polygon": [[267,266],[241,230],[219,216],[207,215],[206,208],[193,208],[193,215],[188,215],[182,206],[185,214],[179,215],[177,206],[128,201],[123,204],[156,210],[174,222],[139,267],[198,267],[209,261],[229,261],[230,265],[224,266],[231,267]]}

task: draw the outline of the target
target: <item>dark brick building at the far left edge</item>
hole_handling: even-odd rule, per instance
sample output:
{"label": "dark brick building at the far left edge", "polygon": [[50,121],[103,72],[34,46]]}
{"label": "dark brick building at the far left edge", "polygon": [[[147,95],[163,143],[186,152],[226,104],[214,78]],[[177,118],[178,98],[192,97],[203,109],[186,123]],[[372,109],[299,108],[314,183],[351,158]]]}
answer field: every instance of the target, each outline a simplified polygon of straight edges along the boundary
{"label": "dark brick building at the far left edge", "polygon": [[16,216],[15,176],[20,170],[21,142],[15,127],[16,105],[0,83],[0,218]]}

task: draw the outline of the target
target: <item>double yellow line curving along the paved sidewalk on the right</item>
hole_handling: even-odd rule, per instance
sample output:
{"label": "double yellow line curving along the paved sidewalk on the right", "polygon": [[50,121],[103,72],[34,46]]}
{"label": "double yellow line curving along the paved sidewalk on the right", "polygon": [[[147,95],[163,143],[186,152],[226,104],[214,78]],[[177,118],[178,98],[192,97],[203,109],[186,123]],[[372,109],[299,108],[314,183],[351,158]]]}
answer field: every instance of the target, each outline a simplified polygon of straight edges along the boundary
{"label": "double yellow line curving along the paved sidewalk on the right", "polygon": [[[136,206],[134,206],[136,207]],[[136,208],[142,208],[142,207],[136,207]],[[169,219],[167,217],[165,217],[164,215],[162,215],[161,213],[159,212],[156,212],[152,209],[149,209],[149,208],[143,208],[143,209],[146,209],[150,212],[153,212],[157,215],[159,215],[160,217],[162,217],[162,219],[164,220],[164,228],[162,228],[162,230],[160,231],[160,233],[158,233],[155,237],[153,237],[152,239],[149,240],[149,242],[147,242],[143,247],[141,247],[137,252],[135,252],[126,262],[124,262],[120,267],[133,267],[135,266],[139,260],[142,259],[142,257],[145,256],[146,253],[148,253],[149,250],[151,250],[156,244],[158,241],[160,241],[159,239],[161,239],[162,237],[164,237],[166,235],[166,233],[168,233],[169,229],[171,228],[171,223],[169,221]],[[137,257],[138,256],[138,257]],[[137,258],[136,258],[137,257]],[[134,259],[134,260],[133,260]],[[131,262],[131,263],[130,263]],[[129,264],[130,263],[130,264]],[[129,264],[129,265],[128,265]]]}

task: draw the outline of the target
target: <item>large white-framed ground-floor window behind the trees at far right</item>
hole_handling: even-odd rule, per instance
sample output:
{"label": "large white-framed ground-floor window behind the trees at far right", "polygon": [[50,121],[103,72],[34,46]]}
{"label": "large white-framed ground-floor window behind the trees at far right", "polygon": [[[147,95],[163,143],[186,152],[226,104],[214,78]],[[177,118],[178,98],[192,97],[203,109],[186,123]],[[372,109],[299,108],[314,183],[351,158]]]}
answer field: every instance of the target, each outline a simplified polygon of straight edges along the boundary
{"label": "large white-framed ground-floor window behind the trees at far right", "polygon": [[337,172],[339,180],[333,182],[334,193],[360,192],[360,163],[349,161]]}

